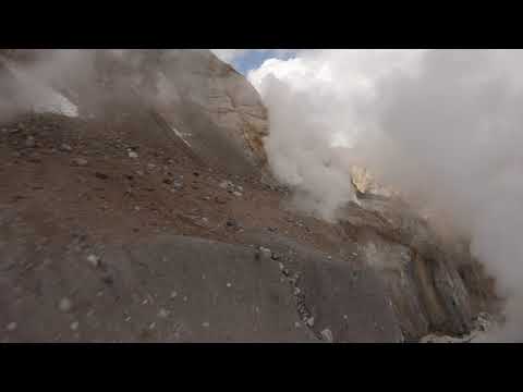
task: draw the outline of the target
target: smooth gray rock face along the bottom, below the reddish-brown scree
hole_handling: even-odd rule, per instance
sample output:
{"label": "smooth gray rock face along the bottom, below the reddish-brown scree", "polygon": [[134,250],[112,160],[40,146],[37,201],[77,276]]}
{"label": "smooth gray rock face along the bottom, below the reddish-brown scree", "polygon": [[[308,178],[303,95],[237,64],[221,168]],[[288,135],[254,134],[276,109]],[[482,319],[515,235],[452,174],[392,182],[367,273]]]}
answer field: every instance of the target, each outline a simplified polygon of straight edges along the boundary
{"label": "smooth gray rock face along the bottom, below the reddish-brown scree", "polygon": [[[321,331],[329,329],[335,342],[401,339],[382,285],[372,271],[356,275],[348,264],[324,262],[324,255],[312,249],[282,242],[271,245],[292,255],[284,262],[293,275],[302,275],[300,280],[290,284],[292,277],[285,278],[276,260],[256,258],[255,248],[173,235],[132,245],[107,244],[104,260],[112,277],[110,285],[97,278],[99,271],[68,253],[57,255],[52,267],[38,265],[17,291],[10,285],[23,271],[10,269],[0,281],[0,319],[23,323],[0,338],[316,342],[325,340]],[[0,249],[0,258],[4,256]],[[16,257],[35,256],[29,246],[20,248]],[[302,302],[296,302],[296,286],[304,293]],[[307,318],[314,318],[311,328],[296,328],[302,321],[300,306],[307,307]]]}

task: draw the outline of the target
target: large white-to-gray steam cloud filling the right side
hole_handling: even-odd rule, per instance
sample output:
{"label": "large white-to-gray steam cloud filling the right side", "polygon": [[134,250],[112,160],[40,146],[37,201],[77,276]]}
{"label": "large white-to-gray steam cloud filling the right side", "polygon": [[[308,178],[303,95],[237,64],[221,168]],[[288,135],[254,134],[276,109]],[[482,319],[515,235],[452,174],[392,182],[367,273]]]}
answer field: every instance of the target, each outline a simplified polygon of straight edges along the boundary
{"label": "large white-to-gray steam cloud filling the right side", "polygon": [[324,217],[352,197],[358,163],[471,236],[507,298],[492,340],[523,340],[522,65],[520,50],[320,50],[248,75],[273,171]]}

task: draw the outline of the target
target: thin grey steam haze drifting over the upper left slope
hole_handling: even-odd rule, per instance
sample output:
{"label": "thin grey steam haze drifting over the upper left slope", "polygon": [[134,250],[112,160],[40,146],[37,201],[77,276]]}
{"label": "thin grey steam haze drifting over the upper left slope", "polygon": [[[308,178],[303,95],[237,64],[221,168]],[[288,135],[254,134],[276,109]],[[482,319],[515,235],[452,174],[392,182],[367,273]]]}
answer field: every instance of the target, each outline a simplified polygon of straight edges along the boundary
{"label": "thin grey steam haze drifting over the upper left slope", "polygon": [[[159,70],[159,60],[161,54],[170,56],[171,52],[175,54],[174,50],[118,49],[20,50],[15,56],[2,53],[0,109],[5,109],[0,110],[0,120],[28,111],[76,117],[88,114],[78,113],[82,110],[104,109],[106,102],[101,99],[100,86],[108,81],[112,83],[110,93],[121,98],[127,98],[132,87],[149,82],[153,88],[141,88],[141,95],[149,102],[167,101],[173,94],[172,89],[166,91],[168,83],[161,79],[165,75]],[[7,86],[10,86],[9,90]],[[17,98],[16,102],[13,95]]]}

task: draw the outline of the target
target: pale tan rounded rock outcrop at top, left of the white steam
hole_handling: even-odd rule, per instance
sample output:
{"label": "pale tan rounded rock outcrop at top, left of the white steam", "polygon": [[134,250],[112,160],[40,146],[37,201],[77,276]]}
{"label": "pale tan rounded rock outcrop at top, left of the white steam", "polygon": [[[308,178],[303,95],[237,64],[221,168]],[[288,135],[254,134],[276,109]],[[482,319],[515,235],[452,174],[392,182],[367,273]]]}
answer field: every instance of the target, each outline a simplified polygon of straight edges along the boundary
{"label": "pale tan rounded rock outcrop at top, left of the white steam", "polygon": [[[227,145],[227,154],[218,151],[218,163],[228,169],[234,169],[242,159],[243,164],[257,170],[266,164],[263,138],[268,135],[267,110],[241,74],[207,50],[166,51],[160,73],[160,89],[175,99],[159,101],[159,111],[173,127],[191,134],[202,156],[216,155],[217,149],[210,151],[205,143],[211,136]],[[181,112],[183,119],[177,118]],[[241,159],[233,160],[231,154]]]}

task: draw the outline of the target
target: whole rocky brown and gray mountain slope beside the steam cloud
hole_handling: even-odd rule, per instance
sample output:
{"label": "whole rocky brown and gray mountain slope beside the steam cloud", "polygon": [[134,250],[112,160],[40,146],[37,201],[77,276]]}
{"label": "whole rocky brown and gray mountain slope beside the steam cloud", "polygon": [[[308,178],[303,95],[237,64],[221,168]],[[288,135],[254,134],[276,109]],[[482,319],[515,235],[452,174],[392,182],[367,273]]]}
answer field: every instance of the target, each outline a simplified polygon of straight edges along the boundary
{"label": "whole rocky brown and gray mountain slope beside the steam cloud", "polygon": [[42,56],[2,53],[1,341],[402,342],[491,311],[466,246],[394,198],[288,208],[266,109],[209,51],[92,52],[35,106]]}

